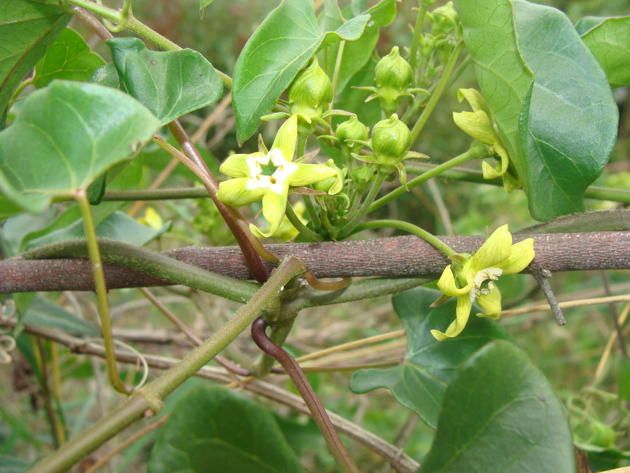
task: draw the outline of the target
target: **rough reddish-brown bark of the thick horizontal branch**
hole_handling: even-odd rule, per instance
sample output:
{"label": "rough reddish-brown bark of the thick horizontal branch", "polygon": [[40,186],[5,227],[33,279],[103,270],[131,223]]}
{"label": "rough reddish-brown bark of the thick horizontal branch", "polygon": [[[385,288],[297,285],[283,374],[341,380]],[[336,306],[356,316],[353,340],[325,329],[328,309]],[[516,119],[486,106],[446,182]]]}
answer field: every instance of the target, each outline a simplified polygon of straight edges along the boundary
{"label": "rough reddish-brown bark of the thick horizontal branch", "polygon": [[[534,238],[537,264],[552,272],[630,269],[630,231],[514,235],[513,240],[529,237]],[[440,238],[458,252],[477,250],[484,241],[483,236]],[[439,274],[449,263],[442,253],[415,236],[267,247],[279,255],[298,257],[317,277],[427,276]],[[185,247],[163,253],[227,276],[251,277],[238,247]],[[168,284],[126,267],[114,264],[104,267],[110,289]],[[272,265],[268,264],[268,268],[272,269]],[[0,293],[66,290],[93,290],[88,260],[0,261]]]}

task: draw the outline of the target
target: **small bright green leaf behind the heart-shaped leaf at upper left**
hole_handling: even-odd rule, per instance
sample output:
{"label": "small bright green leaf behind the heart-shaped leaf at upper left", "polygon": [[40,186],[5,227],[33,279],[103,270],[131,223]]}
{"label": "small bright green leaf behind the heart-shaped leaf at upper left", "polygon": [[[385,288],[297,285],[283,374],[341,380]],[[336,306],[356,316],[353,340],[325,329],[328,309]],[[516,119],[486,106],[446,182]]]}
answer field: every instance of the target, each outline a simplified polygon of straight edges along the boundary
{"label": "small bright green leaf behind the heart-shaped leaf at upper left", "polygon": [[91,52],[79,33],[66,28],[35,66],[33,85],[39,89],[52,79],[86,82],[103,64],[105,61]]}

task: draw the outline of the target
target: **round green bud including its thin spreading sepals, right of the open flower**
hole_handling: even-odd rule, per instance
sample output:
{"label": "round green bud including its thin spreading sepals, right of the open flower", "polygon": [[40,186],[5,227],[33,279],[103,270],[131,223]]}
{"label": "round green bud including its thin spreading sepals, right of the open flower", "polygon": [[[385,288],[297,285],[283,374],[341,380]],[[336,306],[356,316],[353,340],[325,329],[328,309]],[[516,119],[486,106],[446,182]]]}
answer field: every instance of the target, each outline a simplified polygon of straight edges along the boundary
{"label": "round green bud including its thin spreading sepals, right of the open flower", "polygon": [[391,117],[377,122],[372,127],[372,139],[364,140],[347,140],[358,143],[361,146],[368,146],[374,154],[372,156],[358,155],[352,153],[357,160],[365,163],[374,163],[379,172],[391,174],[398,169],[398,175],[401,184],[407,187],[407,173],[404,170],[403,160],[408,158],[428,158],[427,155],[409,151],[412,144],[411,131],[398,119],[398,115],[392,114]]}

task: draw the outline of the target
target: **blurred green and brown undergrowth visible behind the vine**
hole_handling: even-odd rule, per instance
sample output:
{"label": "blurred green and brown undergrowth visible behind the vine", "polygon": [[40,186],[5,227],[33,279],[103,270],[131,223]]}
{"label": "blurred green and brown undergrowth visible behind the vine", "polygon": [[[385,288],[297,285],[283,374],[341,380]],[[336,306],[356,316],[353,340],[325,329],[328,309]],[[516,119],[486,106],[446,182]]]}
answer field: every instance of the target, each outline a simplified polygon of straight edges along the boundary
{"label": "blurred green and brown undergrowth visible behind the vine", "polygon": [[[231,74],[236,58],[249,35],[260,25],[275,1],[253,0],[215,0],[205,10],[203,19],[198,13],[198,0],[134,0],[134,15],[147,23],[157,32],[173,40],[182,47],[190,47],[201,52],[219,70]],[[321,4],[316,1],[316,4]],[[341,6],[349,3],[340,0]],[[375,3],[370,1],[368,4]],[[436,4],[439,5],[438,2]],[[628,15],[630,7],[627,0],[555,0],[542,2],[562,9],[575,23],[587,15]],[[110,3],[113,5],[113,3]],[[410,24],[415,22],[416,1],[404,0],[398,4],[398,16],[391,25],[384,28],[377,44],[377,54],[389,52],[393,45],[407,47],[411,40]],[[88,40],[88,44],[110,61],[109,50],[101,44],[93,33],[79,21],[72,20],[72,28]],[[151,45],[147,45],[151,47]],[[365,85],[365,84],[355,84]],[[470,139],[452,121],[452,112],[464,109],[457,102],[457,87],[474,87],[473,67],[468,67],[455,86],[445,93],[432,119],[416,142],[415,151],[431,156],[431,162],[439,163],[452,158],[469,146]],[[595,183],[610,187],[630,187],[630,95],[627,89],[616,90],[616,99],[621,109],[619,141],[610,158],[604,175]],[[181,121],[191,134],[203,122],[203,119],[217,107],[217,104],[198,110],[182,117]],[[355,111],[355,110],[351,110]],[[372,124],[369,124],[370,126]],[[267,143],[273,139],[276,122],[263,124],[258,130],[265,136]],[[236,129],[231,107],[226,107],[209,131],[202,136],[198,145],[206,152],[207,161],[213,170],[226,156],[238,149]],[[319,147],[314,141],[311,148]],[[255,151],[256,139],[249,139],[239,152]],[[146,188],[170,161],[170,156],[157,146],[147,146],[142,153],[142,178],[139,189]],[[479,163],[469,162],[471,168],[479,169]],[[391,202],[377,213],[375,218],[398,218],[415,223],[437,235],[475,235],[490,231],[497,226],[509,223],[512,230],[532,225],[524,193],[515,190],[506,194],[501,187],[478,185],[467,182],[433,180],[413,189],[398,200]],[[195,182],[192,173],[179,165],[171,173],[162,187],[190,186]],[[387,183],[386,183],[387,184]],[[391,182],[393,188],[397,184]],[[122,210],[129,213],[133,204],[127,204]],[[601,209],[614,206],[613,202],[588,201],[587,206]],[[209,199],[156,201],[151,202],[162,221],[173,221],[169,231],[151,244],[154,249],[175,248],[185,245],[232,245],[229,231],[221,221],[214,205]],[[57,204],[57,212],[64,209]],[[258,209],[252,206],[248,217],[255,215]],[[137,217],[145,209],[137,209]],[[33,225],[38,226],[37,219]],[[32,223],[32,222],[31,222]],[[41,223],[41,222],[40,222]],[[41,226],[41,225],[40,225]],[[391,230],[375,231],[364,237],[383,237],[396,235]],[[628,293],[630,273],[628,271],[607,272],[607,279],[612,294]],[[559,300],[571,300],[595,296],[604,296],[606,291],[599,272],[570,272],[555,274],[551,279]],[[238,307],[229,301],[215,296],[191,293],[185,288],[152,289],[178,317],[199,334],[207,334],[222,324]],[[523,302],[544,300],[534,280],[526,275],[516,275],[501,281],[501,292],[505,308]],[[48,293],[42,295],[54,301],[60,307],[74,315],[95,322],[96,317],[93,295],[76,293],[74,295]],[[118,335],[126,339],[140,351],[163,356],[181,358],[188,346],[183,338],[171,330],[164,320],[136,289],[118,289],[110,291],[113,324]],[[626,312],[618,305],[616,313]],[[630,437],[627,428],[630,423],[626,412],[619,412],[616,406],[616,392],[619,385],[617,364],[619,354],[614,344],[610,355],[604,353],[606,342],[614,332],[611,322],[611,308],[603,305],[574,308],[566,311],[568,324],[557,327],[553,316],[548,312],[529,313],[514,317],[501,318],[506,327],[532,356],[534,362],[549,378],[561,399],[568,406],[568,414],[579,444],[590,444],[591,450],[600,450],[592,455],[593,471],[610,469],[627,464],[625,451],[630,450]],[[401,328],[398,317],[391,308],[389,298],[377,298],[361,301],[352,305],[312,308],[305,310],[287,342],[289,349],[296,355],[308,353],[323,347],[333,346],[345,341],[369,337]],[[628,327],[630,329],[630,327]],[[627,334],[628,330],[625,330]],[[152,332],[163,336],[157,342],[147,341],[147,334]],[[115,332],[116,333],[116,332]],[[142,339],[142,336],[145,338]],[[135,337],[135,341],[134,341]],[[170,337],[170,338],[169,338]],[[33,355],[29,337],[21,336],[23,353]],[[165,340],[171,339],[169,344]],[[142,340],[142,341],[138,341]],[[50,350],[47,344],[45,347]],[[375,353],[360,359],[348,359],[348,362],[391,359],[404,353],[404,344],[392,347],[388,351]],[[228,347],[229,358],[247,366],[258,354],[256,347],[245,333]],[[595,379],[598,363],[606,363]],[[11,368],[0,370],[0,455],[21,458],[16,464],[2,471],[21,471],[24,462],[34,460],[38,455],[52,449],[50,429],[47,424],[42,393],[37,382],[37,373],[26,355],[14,354],[16,363]],[[95,376],[99,371],[100,376]],[[103,412],[116,406],[119,397],[108,388],[105,381],[104,366],[100,360],[91,360],[86,356],[69,353],[60,347],[60,368],[62,385],[60,406],[69,435],[74,435],[81,428],[100,418]],[[123,371],[129,380],[139,377],[133,366]],[[326,373],[309,375],[315,390],[324,406],[364,428],[376,433],[387,441],[401,444],[405,452],[421,461],[432,441],[432,429],[418,422],[416,414],[400,406],[386,390],[376,390],[367,395],[355,395],[348,390],[349,374]],[[293,389],[287,380],[278,381]],[[206,383],[192,379],[175,394],[168,398],[165,411],[168,412],[177,399],[190,388]],[[265,400],[261,400],[265,402]],[[267,403],[275,411],[281,428],[285,431],[292,447],[302,458],[311,472],[334,472],[336,470],[326,452],[323,441],[312,421],[306,416],[297,415],[289,409]],[[135,424],[125,435],[137,431],[148,421]],[[612,433],[610,430],[612,429]],[[115,457],[110,471],[142,472],[146,470],[144,462],[154,433],[144,436],[132,447]],[[119,436],[121,437],[121,436]],[[346,439],[347,440],[347,439]],[[95,458],[113,448],[120,438],[110,441],[76,467],[75,471],[88,469]],[[357,459],[361,470],[365,472],[387,472],[389,469],[381,458],[365,449],[348,442],[350,455]],[[624,463],[625,462],[625,463]],[[13,468],[13,469],[12,469]]]}

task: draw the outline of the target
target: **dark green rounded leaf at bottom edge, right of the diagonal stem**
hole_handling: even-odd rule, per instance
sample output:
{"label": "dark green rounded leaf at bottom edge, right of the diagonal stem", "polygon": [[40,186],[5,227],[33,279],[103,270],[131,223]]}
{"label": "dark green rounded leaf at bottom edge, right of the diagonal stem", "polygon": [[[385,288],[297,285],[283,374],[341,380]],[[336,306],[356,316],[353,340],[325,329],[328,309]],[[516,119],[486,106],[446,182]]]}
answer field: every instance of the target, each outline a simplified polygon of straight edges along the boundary
{"label": "dark green rounded leaf at bottom edge, right of the diagonal stem", "polygon": [[242,394],[198,387],[173,409],[149,473],[304,473],[272,414]]}

